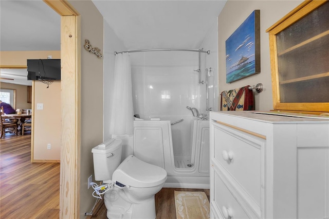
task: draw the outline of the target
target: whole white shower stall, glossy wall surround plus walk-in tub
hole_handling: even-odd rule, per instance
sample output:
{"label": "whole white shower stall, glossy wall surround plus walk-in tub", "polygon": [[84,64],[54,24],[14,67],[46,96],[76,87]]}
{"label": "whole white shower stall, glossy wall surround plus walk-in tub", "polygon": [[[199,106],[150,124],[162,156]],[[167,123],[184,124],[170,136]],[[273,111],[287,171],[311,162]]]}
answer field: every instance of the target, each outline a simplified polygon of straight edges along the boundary
{"label": "whole white shower stall, glossy wall surround plus walk-in tub", "polygon": [[[130,53],[134,114],[139,117],[134,155],[167,170],[165,187],[209,187],[208,54],[179,49]],[[187,106],[197,109],[199,117]]]}

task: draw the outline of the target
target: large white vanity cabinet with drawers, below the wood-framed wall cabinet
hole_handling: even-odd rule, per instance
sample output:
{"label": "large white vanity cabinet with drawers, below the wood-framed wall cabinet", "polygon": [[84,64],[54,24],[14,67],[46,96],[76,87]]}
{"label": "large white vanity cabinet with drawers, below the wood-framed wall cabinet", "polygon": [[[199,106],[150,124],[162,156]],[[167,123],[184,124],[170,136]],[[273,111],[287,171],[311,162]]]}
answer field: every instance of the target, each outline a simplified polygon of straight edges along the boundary
{"label": "large white vanity cabinet with drawers, below the wood-framed wall cabinet", "polygon": [[329,119],[210,112],[211,218],[328,218]]}

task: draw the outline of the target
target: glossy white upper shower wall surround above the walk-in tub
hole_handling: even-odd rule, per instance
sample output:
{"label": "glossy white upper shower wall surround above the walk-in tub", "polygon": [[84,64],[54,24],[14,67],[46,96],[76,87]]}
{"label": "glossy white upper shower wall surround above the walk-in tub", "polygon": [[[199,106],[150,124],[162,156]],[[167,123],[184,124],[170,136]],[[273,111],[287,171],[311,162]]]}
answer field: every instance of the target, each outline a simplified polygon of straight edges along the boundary
{"label": "glossy white upper shower wall surround above the walk-in tub", "polygon": [[[206,106],[199,102],[206,88],[198,83],[199,74],[194,71],[198,69],[198,52],[149,51],[130,56],[135,114],[190,116],[186,106],[204,113]],[[205,56],[208,54],[201,54],[201,62]]]}

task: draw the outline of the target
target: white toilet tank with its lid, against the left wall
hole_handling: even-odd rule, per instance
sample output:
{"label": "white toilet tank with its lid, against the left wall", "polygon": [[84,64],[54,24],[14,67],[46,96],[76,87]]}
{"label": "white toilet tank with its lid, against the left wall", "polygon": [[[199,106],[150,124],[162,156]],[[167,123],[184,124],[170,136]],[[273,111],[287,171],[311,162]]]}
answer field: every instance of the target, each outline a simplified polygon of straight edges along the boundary
{"label": "white toilet tank with its lid, against the left wall", "polygon": [[95,180],[112,179],[113,172],[121,162],[121,139],[110,139],[92,149]]}

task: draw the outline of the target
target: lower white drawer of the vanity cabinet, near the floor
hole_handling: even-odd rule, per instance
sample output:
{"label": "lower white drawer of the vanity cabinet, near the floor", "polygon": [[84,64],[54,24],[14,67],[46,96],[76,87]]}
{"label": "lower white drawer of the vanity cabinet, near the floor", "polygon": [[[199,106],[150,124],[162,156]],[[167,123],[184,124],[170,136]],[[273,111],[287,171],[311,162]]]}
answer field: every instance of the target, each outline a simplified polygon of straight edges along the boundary
{"label": "lower white drawer of the vanity cabinet, near the floor", "polygon": [[223,218],[249,218],[247,213],[226,187],[220,176],[214,172],[213,177],[214,185],[216,185],[214,191],[214,204],[222,214],[221,216],[223,216]]}

